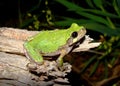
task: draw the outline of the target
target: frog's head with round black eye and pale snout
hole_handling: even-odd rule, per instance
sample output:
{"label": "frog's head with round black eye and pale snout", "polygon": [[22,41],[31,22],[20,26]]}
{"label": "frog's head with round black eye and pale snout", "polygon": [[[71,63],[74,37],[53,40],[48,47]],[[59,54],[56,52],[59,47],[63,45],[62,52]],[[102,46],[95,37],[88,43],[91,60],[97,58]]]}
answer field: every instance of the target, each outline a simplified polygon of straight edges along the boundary
{"label": "frog's head with round black eye and pale snout", "polygon": [[86,29],[83,26],[79,26],[76,23],[73,23],[70,29],[71,29],[71,39],[72,39],[72,43],[70,45],[74,45],[75,43],[80,41],[86,34]]}

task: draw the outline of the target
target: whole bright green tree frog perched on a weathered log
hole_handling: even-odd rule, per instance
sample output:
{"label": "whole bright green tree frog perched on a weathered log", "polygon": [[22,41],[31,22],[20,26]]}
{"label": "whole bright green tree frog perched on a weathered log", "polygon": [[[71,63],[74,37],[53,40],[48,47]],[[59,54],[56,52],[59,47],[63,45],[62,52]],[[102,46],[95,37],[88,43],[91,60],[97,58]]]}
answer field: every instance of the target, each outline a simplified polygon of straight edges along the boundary
{"label": "whole bright green tree frog perched on a weathered log", "polygon": [[43,56],[59,55],[59,66],[63,64],[63,57],[70,51],[74,50],[86,34],[86,29],[76,23],[68,29],[46,30],[29,38],[24,43],[26,56],[35,63],[43,63]]}

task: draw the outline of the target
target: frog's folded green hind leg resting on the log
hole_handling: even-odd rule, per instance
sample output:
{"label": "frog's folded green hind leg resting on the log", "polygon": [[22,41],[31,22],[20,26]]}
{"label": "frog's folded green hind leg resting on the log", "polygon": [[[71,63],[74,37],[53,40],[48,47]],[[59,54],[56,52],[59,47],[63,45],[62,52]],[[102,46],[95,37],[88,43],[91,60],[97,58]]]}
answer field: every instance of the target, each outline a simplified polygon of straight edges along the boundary
{"label": "frog's folded green hind leg resting on the log", "polygon": [[34,49],[32,45],[30,45],[28,42],[24,43],[24,48],[26,50],[25,54],[27,58],[34,61],[37,64],[43,63],[43,57],[40,55],[39,51]]}

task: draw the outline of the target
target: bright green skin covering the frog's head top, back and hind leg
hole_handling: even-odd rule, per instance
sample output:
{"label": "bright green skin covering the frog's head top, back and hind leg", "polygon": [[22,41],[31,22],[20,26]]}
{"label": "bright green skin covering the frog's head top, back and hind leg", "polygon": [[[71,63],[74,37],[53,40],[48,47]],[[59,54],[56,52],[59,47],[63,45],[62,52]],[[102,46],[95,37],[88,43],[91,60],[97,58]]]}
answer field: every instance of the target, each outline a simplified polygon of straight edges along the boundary
{"label": "bright green skin covering the frog's head top, back and hind leg", "polygon": [[62,30],[42,31],[24,43],[28,55],[35,62],[43,62],[42,53],[56,52],[67,43],[74,31],[79,31],[83,26],[73,23],[70,28]]}

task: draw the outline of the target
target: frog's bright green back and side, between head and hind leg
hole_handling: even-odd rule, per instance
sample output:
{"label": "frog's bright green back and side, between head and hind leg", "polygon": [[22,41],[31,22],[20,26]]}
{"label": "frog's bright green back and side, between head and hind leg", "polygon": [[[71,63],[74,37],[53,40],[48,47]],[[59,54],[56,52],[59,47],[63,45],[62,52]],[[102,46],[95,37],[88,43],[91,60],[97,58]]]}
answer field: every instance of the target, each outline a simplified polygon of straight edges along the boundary
{"label": "frog's bright green back and side, between head and hind leg", "polygon": [[29,41],[29,43],[43,53],[50,53],[57,51],[60,46],[65,45],[69,37],[70,33],[67,30],[42,31],[34,36],[34,39]]}

